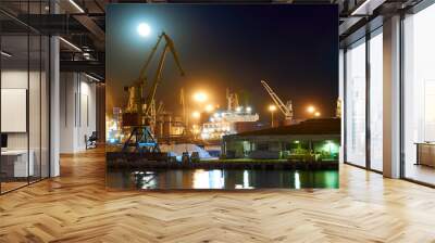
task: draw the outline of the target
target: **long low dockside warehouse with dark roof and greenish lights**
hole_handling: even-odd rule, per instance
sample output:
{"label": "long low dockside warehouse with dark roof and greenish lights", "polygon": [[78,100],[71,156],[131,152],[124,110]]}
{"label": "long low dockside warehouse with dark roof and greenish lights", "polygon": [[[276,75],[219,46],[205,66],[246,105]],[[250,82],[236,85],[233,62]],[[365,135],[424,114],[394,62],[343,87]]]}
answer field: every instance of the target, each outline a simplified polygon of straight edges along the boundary
{"label": "long low dockside warehouse with dark roof and greenish lights", "polygon": [[225,158],[338,161],[340,118],[308,119],[296,125],[224,136]]}

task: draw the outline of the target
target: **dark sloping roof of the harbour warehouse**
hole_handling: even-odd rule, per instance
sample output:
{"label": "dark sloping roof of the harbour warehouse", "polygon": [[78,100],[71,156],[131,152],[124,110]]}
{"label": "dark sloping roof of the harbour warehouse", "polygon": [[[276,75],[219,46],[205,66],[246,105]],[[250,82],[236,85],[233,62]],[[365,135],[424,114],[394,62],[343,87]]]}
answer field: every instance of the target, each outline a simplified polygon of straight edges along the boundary
{"label": "dark sloping roof of the harbour warehouse", "polygon": [[[308,119],[299,124],[268,128],[256,131],[246,131],[237,135],[245,136],[285,136],[285,135],[340,135],[340,118]],[[232,137],[228,136],[228,137]]]}

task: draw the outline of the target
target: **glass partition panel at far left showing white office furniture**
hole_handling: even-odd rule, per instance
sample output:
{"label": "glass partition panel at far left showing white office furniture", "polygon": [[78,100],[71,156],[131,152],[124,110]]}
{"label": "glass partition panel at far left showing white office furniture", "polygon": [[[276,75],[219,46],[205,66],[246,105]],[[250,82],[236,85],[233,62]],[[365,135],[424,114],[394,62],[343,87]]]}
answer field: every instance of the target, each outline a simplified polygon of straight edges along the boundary
{"label": "glass partition panel at far left showing white office furniture", "polygon": [[2,36],[1,59],[1,175],[2,192],[27,184],[28,164],[28,36]]}

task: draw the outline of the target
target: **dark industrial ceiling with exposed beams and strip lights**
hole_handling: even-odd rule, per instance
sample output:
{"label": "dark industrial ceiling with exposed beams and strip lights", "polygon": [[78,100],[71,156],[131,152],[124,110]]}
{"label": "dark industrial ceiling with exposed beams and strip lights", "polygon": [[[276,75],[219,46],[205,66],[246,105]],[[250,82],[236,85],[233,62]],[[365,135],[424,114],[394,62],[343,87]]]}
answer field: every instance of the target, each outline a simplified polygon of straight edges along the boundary
{"label": "dark industrial ceiling with exposed beams and strip lights", "polygon": [[[288,3],[338,4],[340,41],[362,28],[378,13],[406,9],[420,0],[233,0],[234,3]],[[61,42],[61,69],[88,72],[103,79],[105,12],[110,3],[198,3],[188,0],[49,0],[0,2],[0,23],[3,35],[20,36],[27,30],[42,35],[59,35]],[[202,0],[206,3],[222,3]],[[53,13],[57,14],[53,14]],[[18,37],[15,37],[15,39]],[[5,41],[23,44],[10,37]],[[32,54],[30,54],[32,55]]]}

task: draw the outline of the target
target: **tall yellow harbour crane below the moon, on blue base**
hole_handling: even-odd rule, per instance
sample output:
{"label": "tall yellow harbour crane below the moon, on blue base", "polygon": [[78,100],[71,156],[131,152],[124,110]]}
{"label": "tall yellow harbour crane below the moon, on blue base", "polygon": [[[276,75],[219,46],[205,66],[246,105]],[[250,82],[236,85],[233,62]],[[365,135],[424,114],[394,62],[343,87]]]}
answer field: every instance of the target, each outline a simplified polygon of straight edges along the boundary
{"label": "tall yellow harbour crane below the moon, on blue base", "polygon": [[[160,55],[150,91],[147,98],[144,99],[144,89],[147,82],[147,69],[162,40],[165,41],[165,44]],[[126,112],[123,115],[123,126],[130,127],[132,129],[127,140],[124,142],[123,151],[127,151],[128,148],[133,146],[135,148],[135,151],[139,152],[160,152],[159,145],[153,137],[152,126],[156,124],[156,92],[162,78],[164,61],[169,51],[175,60],[181,76],[184,76],[184,71],[179,63],[174,41],[163,31],[159,36],[156,46],[152,48],[150,55],[145,62],[144,67],[140,69],[139,78],[133,86],[126,88],[129,95]]]}

